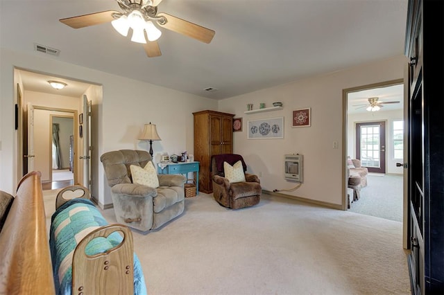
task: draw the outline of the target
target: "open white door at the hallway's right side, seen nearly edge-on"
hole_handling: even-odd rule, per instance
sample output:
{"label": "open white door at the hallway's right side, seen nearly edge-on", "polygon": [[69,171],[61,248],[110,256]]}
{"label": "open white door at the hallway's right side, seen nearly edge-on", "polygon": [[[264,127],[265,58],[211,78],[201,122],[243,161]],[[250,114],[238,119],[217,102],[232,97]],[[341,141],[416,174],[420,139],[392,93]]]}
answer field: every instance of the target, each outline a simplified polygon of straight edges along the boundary
{"label": "open white door at the hallway's right side, seen nearly edge-on", "polygon": [[83,186],[91,190],[91,132],[89,130],[89,122],[91,119],[91,102],[88,101],[87,96],[83,95],[83,155],[79,159],[83,160]]}

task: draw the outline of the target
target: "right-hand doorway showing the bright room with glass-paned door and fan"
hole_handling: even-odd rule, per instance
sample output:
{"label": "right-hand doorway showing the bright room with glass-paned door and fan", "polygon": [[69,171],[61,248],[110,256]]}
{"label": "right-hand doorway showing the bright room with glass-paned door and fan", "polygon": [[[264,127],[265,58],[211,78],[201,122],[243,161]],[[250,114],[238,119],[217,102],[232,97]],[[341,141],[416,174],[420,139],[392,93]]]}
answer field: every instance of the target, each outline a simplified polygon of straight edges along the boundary
{"label": "right-hand doorway showing the bright room with glass-paned door and fan", "polygon": [[348,211],[405,221],[404,169],[396,165],[403,161],[403,130],[397,129],[404,120],[403,83],[400,79],[343,90],[344,171],[348,172],[347,157],[359,159],[368,170],[367,186],[360,188],[360,198]]}

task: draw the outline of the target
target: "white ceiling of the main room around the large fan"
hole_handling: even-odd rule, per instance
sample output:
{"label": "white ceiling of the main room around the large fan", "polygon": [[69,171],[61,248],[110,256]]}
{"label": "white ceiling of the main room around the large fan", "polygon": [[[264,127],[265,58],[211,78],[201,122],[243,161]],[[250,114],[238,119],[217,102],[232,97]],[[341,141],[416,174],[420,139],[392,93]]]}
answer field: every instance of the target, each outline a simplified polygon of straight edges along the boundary
{"label": "white ceiling of the main room around the large fan", "polygon": [[[121,11],[114,0],[0,0],[0,46],[223,99],[402,55],[407,0],[163,0],[159,12],[216,35],[205,44],[160,28],[160,57],[146,57],[111,24],[74,29],[58,21],[103,10]],[[40,82],[24,77],[25,90],[42,91],[49,77],[34,78]],[[76,90],[69,84],[63,91]]]}

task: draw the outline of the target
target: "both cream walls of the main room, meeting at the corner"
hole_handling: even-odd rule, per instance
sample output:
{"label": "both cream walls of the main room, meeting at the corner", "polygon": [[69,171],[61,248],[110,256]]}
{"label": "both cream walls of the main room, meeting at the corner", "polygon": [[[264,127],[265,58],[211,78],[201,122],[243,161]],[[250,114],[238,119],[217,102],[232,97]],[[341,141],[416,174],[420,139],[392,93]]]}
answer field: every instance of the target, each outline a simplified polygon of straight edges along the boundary
{"label": "both cream walls of the main room, meeting at the corner", "polygon": [[[343,118],[342,91],[366,84],[403,78],[404,55],[364,64],[299,80],[279,87],[228,98],[219,102],[193,96],[153,84],[110,75],[42,57],[40,53],[26,55],[1,48],[0,51],[0,188],[13,192],[17,184],[17,139],[14,130],[16,94],[14,66],[32,71],[52,73],[77,80],[103,85],[103,102],[96,105],[98,143],[97,154],[118,149],[144,149],[149,144],[137,140],[144,123],[157,125],[162,141],[153,143],[155,157],[162,152],[193,153],[192,112],[219,109],[244,118],[242,132],[234,133],[234,152],[243,154],[248,170],[261,172],[262,186],[266,190],[292,188],[295,184],[284,180],[284,154],[304,155],[304,184],[289,195],[297,195],[332,204],[342,204]],[[284,109],[259,114],[244,114],[247,103],[281,101]],[[100,104],[101,103],[101,104]],[[293,109],[311,107],[311,127],[291,127]],[[255,118],[284,116],[283,139],[246,138],[246,124]],[[333,141],[339,148],[333,149]],[[97,160],[96,160],[97,161]],[[100,204],[110,204],[110,190],[105,182],[101,163],[95,163]],[[94,186],[93,186],[94,189]]]}

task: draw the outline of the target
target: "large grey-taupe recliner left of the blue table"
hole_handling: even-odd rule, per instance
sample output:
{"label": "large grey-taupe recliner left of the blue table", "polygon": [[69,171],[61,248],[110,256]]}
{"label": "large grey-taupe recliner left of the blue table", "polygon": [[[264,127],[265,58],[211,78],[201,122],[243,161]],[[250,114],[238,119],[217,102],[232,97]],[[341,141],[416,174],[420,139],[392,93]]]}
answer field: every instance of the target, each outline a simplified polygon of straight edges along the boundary
{"label": "large grey-taupe recliner left of the blue table", "polygon": [[[183,213],[185,176],[157,175],[151,155],[144,150],[106,152],[100,159],[117,222],[148,233]],[[142,175],[142,181],[136,183],[132,172]],[[145,183],[143,177],[155,184]]]}

